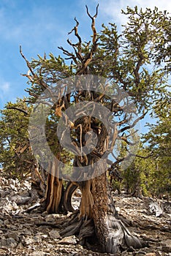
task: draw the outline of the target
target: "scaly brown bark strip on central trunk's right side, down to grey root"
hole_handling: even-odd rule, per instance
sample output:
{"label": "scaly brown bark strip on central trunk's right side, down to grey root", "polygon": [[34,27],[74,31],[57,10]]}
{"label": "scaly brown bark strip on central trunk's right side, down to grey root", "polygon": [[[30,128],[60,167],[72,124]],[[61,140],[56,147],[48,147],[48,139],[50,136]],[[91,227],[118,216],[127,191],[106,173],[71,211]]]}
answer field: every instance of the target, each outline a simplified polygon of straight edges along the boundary
{"label": "scaly brown bark strip on central trunk's right side, down to grey root", "polygon": [[[102,168],[102,166],[99,166]],[[96,236],[105,252],[118,253],[129,246],[142,247],[142,242],[129,233],[129,230],[119,219],[110,190],[106,173],[92,181],[92,195],[94,197],[93,217]]]}

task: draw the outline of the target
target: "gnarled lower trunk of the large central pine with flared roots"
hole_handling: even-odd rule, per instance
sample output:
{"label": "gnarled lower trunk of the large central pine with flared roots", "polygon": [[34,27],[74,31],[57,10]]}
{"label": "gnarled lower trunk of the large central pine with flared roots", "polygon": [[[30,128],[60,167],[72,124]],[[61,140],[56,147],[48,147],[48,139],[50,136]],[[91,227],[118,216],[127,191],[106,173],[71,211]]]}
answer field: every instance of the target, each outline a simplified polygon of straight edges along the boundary
{"label": "gnarled lower trunk of the large central pine with flared roots", "polygon": [[[106,150],[107,140],[107,131],[102,127],[96,146],[99,154],[103,154]],[[77,182],[82,192],[80,213],[73,219],[72,224],[61,232],[61,236],[77,235],[83,241],[83,238],[92,236],[95,232],[104,252],[108,253],[122,252],[129,246],[139,248],[142,246],[142,242],[129,233],[128,228],[115,211],[107,181],[107,163],[101,162],[99,159],[98,156],[88,155],[87,163],[96,164],[94,165],[95,178]],[[86,161],[83,162],[83,166],[86,166]]]}

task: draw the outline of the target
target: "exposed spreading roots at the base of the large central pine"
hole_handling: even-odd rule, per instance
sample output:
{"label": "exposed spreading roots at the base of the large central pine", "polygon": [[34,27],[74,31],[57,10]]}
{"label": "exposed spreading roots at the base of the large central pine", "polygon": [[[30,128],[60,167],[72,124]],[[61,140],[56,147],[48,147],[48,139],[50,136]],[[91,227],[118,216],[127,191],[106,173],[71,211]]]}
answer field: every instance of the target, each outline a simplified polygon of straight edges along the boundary
{"label": "exposed spreading roots at the base of the large central pine", "polygon": [[[96,227],[94,225],[93,219],[79,219],[78,213],[75,217],[73,215],[68,225],[64,230],[61,231],[60,235],[62,237],[66,236],[77,236],[80,240],[80,244],[86,244],[87,238],[94,238]],[[124,250],[133,247],[134,249],[142,248],[147,246],[145,241],[140,241],[137,236],[133,236],[128,228],[123,224],[121,219],[116,219],[113,215],[107,215],[104,219],[105,224],[105,233],[103,236],[103,243],[101,239],[101,245],[104,249],[104,252],[108,253],[118,253],[123,252]],[[128,225],[128,224],[127,224]],[[103,227],[104,228],[104,227]],[[97,231],[98,232],[98,231]],[[98,234],[97,234],[98,235]]]}

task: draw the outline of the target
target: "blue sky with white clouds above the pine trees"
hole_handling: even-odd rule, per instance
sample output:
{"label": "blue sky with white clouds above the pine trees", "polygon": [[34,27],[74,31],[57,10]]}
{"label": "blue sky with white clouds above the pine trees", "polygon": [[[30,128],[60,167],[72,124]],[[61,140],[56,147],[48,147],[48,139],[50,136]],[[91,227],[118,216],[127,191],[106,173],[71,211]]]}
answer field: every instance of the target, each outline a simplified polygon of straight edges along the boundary
{"label": "blue sky with white clouds above the pine trees", "polygon": [[126,6],[159,7],[171,12],[168,0],[0,0],[0,109],[7,101],[15,102],[16,97],[27,96],[26,78],[20,75],[28,68],[19,53],[28,60],[36,59],[37,54],[61,53],[58,46],[66,46],[67,33],[75,25],[74,18],[80,22],[81,35],[88,39],[90,19],[86,15],[86,4],[91,14],[99,3],[96,27],[115,22],[118,26],[125,22],[121,9]]}

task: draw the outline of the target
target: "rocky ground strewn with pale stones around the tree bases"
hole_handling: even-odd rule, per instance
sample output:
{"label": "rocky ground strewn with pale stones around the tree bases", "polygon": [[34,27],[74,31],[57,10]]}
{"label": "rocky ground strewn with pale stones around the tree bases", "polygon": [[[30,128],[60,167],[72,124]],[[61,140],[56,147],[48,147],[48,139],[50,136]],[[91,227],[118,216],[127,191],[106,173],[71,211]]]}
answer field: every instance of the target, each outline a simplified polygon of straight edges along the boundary
{"label": "rocky ground strewn with pale stones around the tree bases", "polygon": [[[75,236],[61,238],[66,223],[62,214],[40,213],[30,205],[30,181],[0,178],[0,255],[107,255],[98,247],[78,244]],[[148,247],[130,248],[121,255],[171,256],[171,203],[151,198],[113,195],[118,213],[129,220],[130,230],[148,241]],[[79,198],[74,197],[75,207]],[[39,203],[39,202],[37,202]],[[109,255],[109,254],[108,254]]]}

